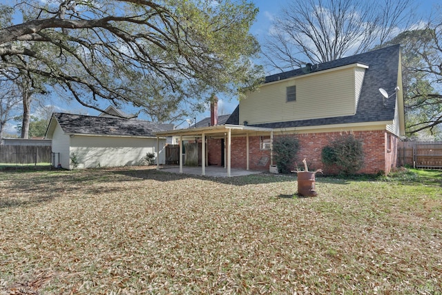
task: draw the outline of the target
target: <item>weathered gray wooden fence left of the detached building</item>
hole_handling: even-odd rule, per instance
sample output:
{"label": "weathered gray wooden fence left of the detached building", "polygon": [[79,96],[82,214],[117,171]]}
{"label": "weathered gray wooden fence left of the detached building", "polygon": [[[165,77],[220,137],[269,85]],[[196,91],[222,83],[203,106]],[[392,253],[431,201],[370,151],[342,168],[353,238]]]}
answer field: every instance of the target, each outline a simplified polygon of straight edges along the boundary
{"label": "weathered gray wooden fence left of the detached building", "polygon": [[0,145],[0,163],[37,165],[50,162],[50,145]]}

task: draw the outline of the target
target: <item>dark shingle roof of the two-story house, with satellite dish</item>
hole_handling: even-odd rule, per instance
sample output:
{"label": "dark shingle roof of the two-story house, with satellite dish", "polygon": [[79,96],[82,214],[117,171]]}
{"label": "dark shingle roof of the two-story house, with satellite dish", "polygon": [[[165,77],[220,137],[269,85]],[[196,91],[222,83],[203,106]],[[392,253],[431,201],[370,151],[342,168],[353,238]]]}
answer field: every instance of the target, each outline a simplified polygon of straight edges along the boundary
{"label": "dark shingle roof of the two-story house, with satellite dish", "polygon": [[[312,72],[319,72],[321,70],[328,70],[337,68],[343,65],[350,65],[352,63],[363,63],[369,68],[365,70],[365,77],[363,81],[361,97],[358,103],[356,114],[352,116],[338,116],[322,119],[309,120],[294,120],[276,123],[263,123],[253,126],[264,128],[290,128],[290,127],[305,127],[315,125],[332,125],[341,123],[361,123],[374,121],[391,121],[394,119],[395,100],[388,99],[383,105],[383,99],[378,88],[384,88],[389,93],[393,93],[396,88],[398,79],[398,63],[399,63],[400,45],[393,45],[387,48],[357,54],[352,57],[345,57],[337,59],[336,61],[329,61],[327,63],[320,63],[313,67]],[[265,83],[288,79],[291,77],[305,74],[302,69],[291,70],[289,72],[282,72],[266,77]],[[333,101],[330,101],[333,103]],[[327,105],[320,106],[327,108]],[[238,108],[237,108],[238,109]],[[236,114],[237,110],[233,112]],[[239,110],[236,116],[231,116],[227,122],[229,124],[239,124]]]}

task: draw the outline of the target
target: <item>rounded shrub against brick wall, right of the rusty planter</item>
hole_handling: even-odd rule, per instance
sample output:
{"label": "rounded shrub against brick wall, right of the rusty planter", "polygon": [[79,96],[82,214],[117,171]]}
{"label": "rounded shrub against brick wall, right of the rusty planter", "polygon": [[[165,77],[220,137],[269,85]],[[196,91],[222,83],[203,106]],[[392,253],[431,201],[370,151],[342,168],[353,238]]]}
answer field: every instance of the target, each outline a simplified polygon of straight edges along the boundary
{"label": "rounded shrub against brick wall, right of the rusty planter", "polygon": [[340,136],[323,148],[321,158],[325,165],[336,165],[343,174],[355,174],[364,165],[362,141],[352,134]]}

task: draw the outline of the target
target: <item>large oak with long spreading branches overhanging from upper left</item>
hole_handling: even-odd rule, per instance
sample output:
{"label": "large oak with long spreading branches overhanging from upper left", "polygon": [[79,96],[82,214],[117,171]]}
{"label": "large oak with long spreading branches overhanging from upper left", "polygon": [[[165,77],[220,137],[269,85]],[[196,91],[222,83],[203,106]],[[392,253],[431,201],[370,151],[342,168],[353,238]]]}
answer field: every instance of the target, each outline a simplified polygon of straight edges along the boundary
{"label": "large oak with long spreading branches overhanging from upper left", "polygon": [[23,23],[1,19],[0,69],[61,87],[88,108],[104,111],[102,99],[164,105],[153,114],[162,121],[183,103],[262,81],[249,34],[258,10],[246,0],[21,0],[14,8]]}

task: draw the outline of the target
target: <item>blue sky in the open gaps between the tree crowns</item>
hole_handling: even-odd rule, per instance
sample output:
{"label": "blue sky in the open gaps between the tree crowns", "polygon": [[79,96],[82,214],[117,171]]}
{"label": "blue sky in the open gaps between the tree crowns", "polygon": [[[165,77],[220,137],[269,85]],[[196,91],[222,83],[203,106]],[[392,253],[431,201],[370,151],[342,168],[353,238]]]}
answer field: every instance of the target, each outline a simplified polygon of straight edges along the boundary
{"label": "blue sky in the open gaps between the tree crowns", "polygon": [[[4,3],[7,0],[0,0],[0,3]],[[251,27],[251,34],[253,34],[258,41],[260,41],[260,44],[265,41],[265,37],[269,34],[269,30],[271,30],[271,23],[272,20],[278,16],[278,13],[281,11],[281,9],[285,6],[287,6],[289,3],[296,0],[254,0],[253,3],[255,3],[256,7],[259,8],[259,13],[256,18],[256,22]],[[371,0],[367,0],[371,1]],[[400,0],[398,0],[400,1]],[[434,8],[435,5],[440,3],[440,0],[423,0],[419,1],[416,0],[416,3],[419,3],[419,6],[416,10],[416,14],[419,16],[427,16],[432,12],[432,8]],[[268,69],[267,69],[268,70]],[[268,72],[268,71],[267,71]],[[227,98],[223,96],[218,96],[218,112],[220,114],[231,114],[233,110],[235,110],[236,106],[238,105],[238,99],[236,98]],[[55,112],[71,112],[71,113],[81,113],[81,114],[90,114],[90,115],[97,115],[99,112],[96,110],[92,110],[89,108],[85,108],[76,101],[71,101],[70,103],[66,103],[66,101],[59,101],[57,98],[52,98],[48,103],[52,103],[55,106]],[[108,105],[103,105],[103,108],[106,108]],[[136,112],[135,109],[127,108],[125,110],[122,110],[123,112],[126,112],[128,114],[134,114]],[[207,116],[210,116],[210,110],[209,108],[206,110],[206,112],[202,113],[194,113],[189,118],[183,118],[185,119],[193,119],[195,118],[196,121],[200,121]],[[139,116],[138,119],[146,120],[146,116]],[[178,125],[182,123],[182,121],[174,122],[175,125]],[[179,128],[186,128],[188,127],[188,123],[184,122],[180,125]],[[9,125],[6,132],[8,133],[15,133],[14,132],[14,126]]]}

